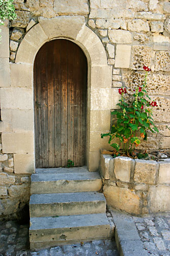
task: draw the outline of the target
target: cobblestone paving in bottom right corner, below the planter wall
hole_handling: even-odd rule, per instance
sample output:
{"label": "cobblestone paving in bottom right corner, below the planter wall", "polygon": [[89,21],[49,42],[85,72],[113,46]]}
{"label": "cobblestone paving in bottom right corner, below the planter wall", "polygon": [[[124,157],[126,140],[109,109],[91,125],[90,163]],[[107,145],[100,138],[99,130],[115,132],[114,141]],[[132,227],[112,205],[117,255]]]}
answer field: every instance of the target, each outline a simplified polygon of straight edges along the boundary
{"label": "cobblestone paving in bottom right corner, below the planter wall", "polygon": [[133,220],[148,255],[170,256],[170,214]]}

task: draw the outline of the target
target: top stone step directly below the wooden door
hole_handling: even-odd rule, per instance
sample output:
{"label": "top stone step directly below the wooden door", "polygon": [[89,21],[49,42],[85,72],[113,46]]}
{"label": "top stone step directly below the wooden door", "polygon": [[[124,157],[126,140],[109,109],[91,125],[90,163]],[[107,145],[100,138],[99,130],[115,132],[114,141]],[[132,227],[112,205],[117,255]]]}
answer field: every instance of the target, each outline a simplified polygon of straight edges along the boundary
{"label": "top stone step directly below the wooden door", "polygon": [[98,172],[87,169],[39,169],[31,176],[31,194],[99,191],[102,180]]}

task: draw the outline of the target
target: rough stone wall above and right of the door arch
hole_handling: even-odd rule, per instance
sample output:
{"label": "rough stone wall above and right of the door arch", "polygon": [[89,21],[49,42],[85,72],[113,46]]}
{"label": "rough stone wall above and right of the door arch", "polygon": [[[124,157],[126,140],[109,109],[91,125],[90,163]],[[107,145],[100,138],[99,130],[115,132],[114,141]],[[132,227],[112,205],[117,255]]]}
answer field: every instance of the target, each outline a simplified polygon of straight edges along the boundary
{"label": "rough stone wall above and right of the door arch", "polygon": [[112,66],[112,87],[132,88],[144,78],[143,65],[152,68],[148,90],[158,107],[154,120],[159,134],[149,133],[141,148],[170,148],[170,3],[158,0],[15,0],[17,19],[10,23],[10,59],[15,62],[18,45],[38,17],[80,15],[102,41]]}

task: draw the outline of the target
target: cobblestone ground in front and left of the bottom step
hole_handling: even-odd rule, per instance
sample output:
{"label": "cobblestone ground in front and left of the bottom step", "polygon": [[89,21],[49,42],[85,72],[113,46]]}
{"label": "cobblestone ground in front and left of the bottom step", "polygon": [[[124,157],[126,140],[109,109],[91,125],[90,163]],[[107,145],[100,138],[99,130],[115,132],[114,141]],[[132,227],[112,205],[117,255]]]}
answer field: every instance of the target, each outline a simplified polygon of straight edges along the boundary
{"label": "cobblestone ground in front and left of the bottom step", "polygon": [[0,221],[0,256],[119,256],[115,240],[98,240],[83,244],[29,250],[29,226],[16,221]]}

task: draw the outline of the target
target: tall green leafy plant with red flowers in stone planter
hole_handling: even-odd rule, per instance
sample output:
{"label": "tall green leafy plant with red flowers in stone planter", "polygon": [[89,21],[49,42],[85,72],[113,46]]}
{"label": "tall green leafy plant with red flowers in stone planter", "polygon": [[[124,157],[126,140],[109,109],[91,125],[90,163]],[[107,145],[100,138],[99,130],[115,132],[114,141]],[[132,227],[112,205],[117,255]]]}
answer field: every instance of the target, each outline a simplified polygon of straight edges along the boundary
{"label": "tall green leafy plant with red flowers in stone planter", "polygon": [[111,147],[120,150],[118,143],[111,143],[112,139],[119,138],[123,147],[123,152],[127,155],[133,153],[133,150],[138,147],[141,140],[147,140],[147,130],[155,133],[158,132],[152,118],[153,108],[157,106],[156,101],[151,102],[151,98],[147,94],[147,76],[151,69],[148,66],[143,67],[145,70],[145,79],[143,85],[136,86],[133,91],[132,98],[125,97],[127,89],[119,88],[121,99],[117,104],[118,110],[112,111],[111,114],[116,115],[116,124],[112,125],[111,131],[102,133],[101,138],[109,136],[108,143]]}

